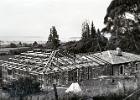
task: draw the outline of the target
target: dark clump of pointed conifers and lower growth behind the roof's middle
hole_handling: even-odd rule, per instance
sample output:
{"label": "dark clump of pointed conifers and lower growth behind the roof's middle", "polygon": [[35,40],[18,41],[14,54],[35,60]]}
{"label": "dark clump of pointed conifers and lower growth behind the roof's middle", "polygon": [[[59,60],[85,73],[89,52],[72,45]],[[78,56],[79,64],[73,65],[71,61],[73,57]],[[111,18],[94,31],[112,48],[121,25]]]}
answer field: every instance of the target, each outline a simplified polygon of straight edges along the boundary
{"label": "dark clump of pointed conifers and lower growth behind the roof's middle", "polygon": [[95,29],[93,22],[91,27],[85,21],[82,24],[82,37],[79,41],[70,41],[64,44],[63,49],[70,53],[101,52],[105,50],[107,39],[99,29]]}

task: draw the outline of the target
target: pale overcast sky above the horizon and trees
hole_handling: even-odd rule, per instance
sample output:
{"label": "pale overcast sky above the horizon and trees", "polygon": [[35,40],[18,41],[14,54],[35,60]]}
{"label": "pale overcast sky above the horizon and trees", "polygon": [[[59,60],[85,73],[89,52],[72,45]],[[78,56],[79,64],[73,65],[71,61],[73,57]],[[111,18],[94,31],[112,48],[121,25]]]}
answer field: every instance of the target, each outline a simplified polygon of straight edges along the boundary
{"label": "pale overcast sky above the horizon and trees", "polygon": [[96,28],[111,0],[0,0],[0,39],[47,40],[56,26],[62,41],[81,37],[81,24],[93,20]]}

